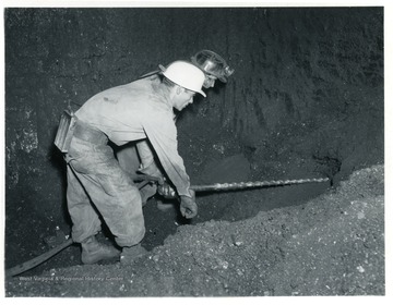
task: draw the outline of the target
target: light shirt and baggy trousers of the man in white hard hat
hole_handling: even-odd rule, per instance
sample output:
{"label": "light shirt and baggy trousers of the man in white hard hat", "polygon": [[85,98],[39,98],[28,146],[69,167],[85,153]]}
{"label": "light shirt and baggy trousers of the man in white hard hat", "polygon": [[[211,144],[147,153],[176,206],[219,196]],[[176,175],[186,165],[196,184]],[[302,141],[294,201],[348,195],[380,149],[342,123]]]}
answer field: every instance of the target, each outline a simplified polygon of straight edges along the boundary
{"label": "light shirt and baggy trousers of the man in white hard hat", "polygon": [[66,155],[75,242],[100,230],[98,212],[119,246],[135,245],[145,233],[140,192],[108,139],[121,146],[147,138],[178,194],[191,197],[172,105],[162,86],[157,76],[142,78],[95,95],[75,112],[76,127]]}

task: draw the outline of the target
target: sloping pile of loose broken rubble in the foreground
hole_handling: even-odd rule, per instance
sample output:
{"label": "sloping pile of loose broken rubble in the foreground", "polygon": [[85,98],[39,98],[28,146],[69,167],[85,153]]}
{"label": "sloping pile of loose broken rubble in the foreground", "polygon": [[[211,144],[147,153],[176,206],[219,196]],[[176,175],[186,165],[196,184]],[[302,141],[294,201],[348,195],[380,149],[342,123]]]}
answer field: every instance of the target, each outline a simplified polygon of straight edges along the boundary
{"label": "sloping pile of loose broken rubble in the foreground", "polygon": [[384,169],[303,205],[179,227],[130,268],[51,269],[8,296],[384,295]]}

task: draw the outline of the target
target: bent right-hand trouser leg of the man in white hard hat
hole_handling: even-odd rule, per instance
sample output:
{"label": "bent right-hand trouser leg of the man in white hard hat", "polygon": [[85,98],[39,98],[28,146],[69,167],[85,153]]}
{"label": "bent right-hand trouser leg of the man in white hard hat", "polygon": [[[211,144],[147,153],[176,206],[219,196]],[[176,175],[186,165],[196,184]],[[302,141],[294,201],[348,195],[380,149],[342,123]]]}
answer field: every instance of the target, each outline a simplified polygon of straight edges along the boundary
{"label": "bent right-hand trouser leg of the man in white hard hat", "polygon": [[71,160],[81,183],[115,235],[119,246],[141,242],[145,233],[142,200],[130,176],[119,167],[112,151],[90,154]]}

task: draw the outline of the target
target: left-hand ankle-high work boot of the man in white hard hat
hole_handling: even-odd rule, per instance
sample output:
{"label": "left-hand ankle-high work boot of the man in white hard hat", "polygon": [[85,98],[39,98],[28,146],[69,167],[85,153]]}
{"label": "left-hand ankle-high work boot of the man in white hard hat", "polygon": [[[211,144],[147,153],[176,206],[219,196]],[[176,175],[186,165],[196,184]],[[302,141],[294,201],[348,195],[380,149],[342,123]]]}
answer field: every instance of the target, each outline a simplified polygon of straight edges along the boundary
{"label": "left-hand ankle-high work boot of the man in white hard hat", "polygon": [[120,251],[114,246],[98,243],[95,236],[87,237],[82,243],[82,263],[90,265],[103,259],[119,257]]}

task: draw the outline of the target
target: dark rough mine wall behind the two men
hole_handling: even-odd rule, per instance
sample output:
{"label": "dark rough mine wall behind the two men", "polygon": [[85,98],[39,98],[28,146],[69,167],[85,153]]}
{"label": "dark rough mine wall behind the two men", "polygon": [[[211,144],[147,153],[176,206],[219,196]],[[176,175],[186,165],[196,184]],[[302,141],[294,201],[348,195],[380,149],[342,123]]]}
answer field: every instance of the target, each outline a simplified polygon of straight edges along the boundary
{"label": "dark rough mine wall behind the two men", "polygon": [[[201,49],[235,73],[178,121],[192,183],[329,176],[323,193],[383,163],[383,8],[14,8],[4,20],[7,267],[45,251],[56,228],[70,231],[53,146],[61,112]],[[195,221],[315,193],[255,192],[203,196]],[[215,209],[261,196],[266,205]]]}

